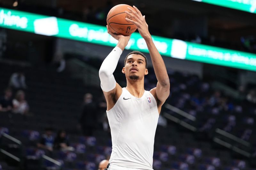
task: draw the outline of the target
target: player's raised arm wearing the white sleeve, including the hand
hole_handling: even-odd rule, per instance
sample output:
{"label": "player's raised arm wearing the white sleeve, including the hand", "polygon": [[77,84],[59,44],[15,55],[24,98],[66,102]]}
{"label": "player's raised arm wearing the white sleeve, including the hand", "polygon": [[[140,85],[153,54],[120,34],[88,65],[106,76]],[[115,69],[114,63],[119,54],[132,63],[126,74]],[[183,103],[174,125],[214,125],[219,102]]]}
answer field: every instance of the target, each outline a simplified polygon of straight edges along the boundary
{"label": "player's raised arm wearing the white sleeve, including the hand", "polygon": [[120,55],[122,54],[124,48],[128,44],[131,35],[123,36],[113,34],[109,31],[109,29],[108,33],[113,38],[118,40],[118,43],[101,64],[99,76],[100,86],[107,101],[107,110],[110,110],[116,104],[116,100],[120,97],[122,93],[122,88],[120,85],[118,85],[118,83],[116,83],[113,72],[116,70],[116,66],[120,58]]}

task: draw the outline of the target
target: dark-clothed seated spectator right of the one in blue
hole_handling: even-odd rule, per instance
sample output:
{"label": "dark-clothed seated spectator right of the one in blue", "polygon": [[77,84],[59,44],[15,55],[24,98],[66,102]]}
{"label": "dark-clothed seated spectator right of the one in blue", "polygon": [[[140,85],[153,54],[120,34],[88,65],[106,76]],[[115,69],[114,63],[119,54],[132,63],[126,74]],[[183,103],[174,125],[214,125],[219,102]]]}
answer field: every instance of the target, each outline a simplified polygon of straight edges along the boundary
{"label": "dark-clothed seated spectator right of the one in blue", "polygon": [[74,151],[74,148],[69,146],[67,133],[65,130],[60,130],[57,137],[54,139],[54,149],[62,151]]}

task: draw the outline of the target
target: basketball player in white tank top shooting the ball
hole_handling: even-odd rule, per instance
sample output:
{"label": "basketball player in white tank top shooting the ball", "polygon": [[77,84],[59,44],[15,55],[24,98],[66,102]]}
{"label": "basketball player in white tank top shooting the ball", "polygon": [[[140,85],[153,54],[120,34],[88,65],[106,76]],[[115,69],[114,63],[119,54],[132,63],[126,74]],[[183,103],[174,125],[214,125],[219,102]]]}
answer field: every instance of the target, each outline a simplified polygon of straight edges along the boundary
{"label": "basketball player in white tank top shooting the ball", "polygon": [[[156,126],[161,107],[170,93],[170,81],[164,61],[148,31],[145,16],[127,9],[136,21],[140,35],[147,43],[157,78],[156,87],[144,90],[144,76],[148,74],[145,55],[138,51],[128,54],[122,72],[127,85],[122,88],[113,76],[119,57],[130,36],[108,33],[118,40],[116,47],[103,61],[99,76],[101,88],[107,100],[107,116],[112,137],[112,153],[106,170],[152,170]],[[128,12],[129,11],[129,12]]]}

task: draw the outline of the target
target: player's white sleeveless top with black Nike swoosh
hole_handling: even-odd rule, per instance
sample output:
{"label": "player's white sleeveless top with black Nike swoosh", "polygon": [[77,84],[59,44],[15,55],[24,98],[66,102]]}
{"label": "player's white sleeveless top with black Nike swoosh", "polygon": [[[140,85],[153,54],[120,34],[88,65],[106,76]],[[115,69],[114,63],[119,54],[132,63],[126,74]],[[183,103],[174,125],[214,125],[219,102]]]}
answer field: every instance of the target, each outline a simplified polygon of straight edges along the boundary
{"label": "player's white sleeveless top with black Nike swoosh", "polygon": [[154,96],[145,91],[141,98],[122,88],[113,108],[107,111],[111,129],[110,165],[152,169],[158,109]]}

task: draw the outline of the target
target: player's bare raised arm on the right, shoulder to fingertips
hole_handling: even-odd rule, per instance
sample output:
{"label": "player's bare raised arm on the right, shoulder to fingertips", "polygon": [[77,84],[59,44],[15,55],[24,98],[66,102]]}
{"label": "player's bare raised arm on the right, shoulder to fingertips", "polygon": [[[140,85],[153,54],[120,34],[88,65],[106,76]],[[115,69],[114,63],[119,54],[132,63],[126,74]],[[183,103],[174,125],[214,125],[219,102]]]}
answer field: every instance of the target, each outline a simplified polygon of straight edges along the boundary
{"label": "player's bare raised arm on the right, shoulder to fingertips", "polygon": [[136,21],[133,21],[128,18],[125,18],[125,19],[137,26],[141,37],[144,38],[144,40],[147,43],[148,51],[153,63],[154,71],[156,73],[156,79],[158,81],[156,84],[156,87],[153,88],[150,92],[153,95],[156,95],[156,98],[158,100],[158,106],[162,106],[162,104],[170,94],[170,81],[166,71],[166,67],[164,65],[164,60],[162,56],[159,54],[151,38],[151,35],[148,31],[148,24],[146,23],[145,15],[142,16],[141,12],[135,6],[133,6],[133,8],[137,12],[132,11],[130,8],[128,8],[130,12],[128,11],[125,11],[125,12],[131,17],[135,18]]}

